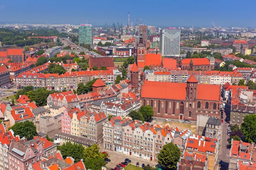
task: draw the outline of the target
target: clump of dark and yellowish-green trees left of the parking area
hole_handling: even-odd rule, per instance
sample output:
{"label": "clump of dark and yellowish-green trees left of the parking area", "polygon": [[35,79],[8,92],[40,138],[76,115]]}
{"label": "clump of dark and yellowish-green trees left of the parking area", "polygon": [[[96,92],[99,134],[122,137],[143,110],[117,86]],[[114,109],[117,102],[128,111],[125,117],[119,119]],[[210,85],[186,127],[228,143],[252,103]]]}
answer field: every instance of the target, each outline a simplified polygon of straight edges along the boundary
{"label": "clump of dark and yellowish-green trees left of the parking area", "polygon": [[84,149],[81,144],[67,142],[61,146],[57,146],[57,149],[61,151],[64,159],[66,159],[67,156],[72,156],[73,159],[75,159],[75,163],[84,159],[86,169],[101,170],[101,168],[106,165],[104,158],[107,154],[99,152],[98,144],[93,144],[91,147]]}

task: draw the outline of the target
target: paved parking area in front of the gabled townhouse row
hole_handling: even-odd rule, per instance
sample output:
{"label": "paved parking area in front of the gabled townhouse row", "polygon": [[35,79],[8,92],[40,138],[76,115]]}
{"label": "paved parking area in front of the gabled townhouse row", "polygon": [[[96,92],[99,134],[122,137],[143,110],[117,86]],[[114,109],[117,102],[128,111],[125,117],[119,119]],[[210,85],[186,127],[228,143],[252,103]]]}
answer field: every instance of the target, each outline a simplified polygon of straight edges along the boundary
{"label": "paved parking area in front of the gabled townhouse row", "polygon": [[[102,147],[100,148],[100,151],[101,152],[103,151]],[[116,164],[119,164],[119,163],[125,161],[125,158],[130,159],[131,160],[130,164],[133,164],[133,165],[136,165],[136,163],[139,162],[140,167],[142,164],[145,164],[145,165],[149,164],[150,166],[155,166],[156,164],[158,164],[157,162],[145,160],[142,158],[137,158],[135,156],[131,156],[131,155],[124,154],[124,153],[119,153],[119,152],[116,152],[113,150],[105,150],[104,149],[104,151],[108,153],[108,159],[111,160],[111,162],[108,162],[108,164],[106,164],[106,167],[108,167],[108,168],[116,167]]]}

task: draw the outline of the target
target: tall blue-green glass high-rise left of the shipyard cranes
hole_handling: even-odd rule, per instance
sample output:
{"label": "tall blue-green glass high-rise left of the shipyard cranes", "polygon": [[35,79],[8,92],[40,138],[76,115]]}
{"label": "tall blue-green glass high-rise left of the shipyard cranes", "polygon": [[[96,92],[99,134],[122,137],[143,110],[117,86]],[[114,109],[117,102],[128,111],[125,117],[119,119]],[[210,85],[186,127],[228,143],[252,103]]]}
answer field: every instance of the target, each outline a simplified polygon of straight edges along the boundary
{"label": "tall blue-green glass high-rise left of the shipyard cranes", "polygon": [[81,24],[78,34],[79,44],[93,44],[93,26],[91,24]]}

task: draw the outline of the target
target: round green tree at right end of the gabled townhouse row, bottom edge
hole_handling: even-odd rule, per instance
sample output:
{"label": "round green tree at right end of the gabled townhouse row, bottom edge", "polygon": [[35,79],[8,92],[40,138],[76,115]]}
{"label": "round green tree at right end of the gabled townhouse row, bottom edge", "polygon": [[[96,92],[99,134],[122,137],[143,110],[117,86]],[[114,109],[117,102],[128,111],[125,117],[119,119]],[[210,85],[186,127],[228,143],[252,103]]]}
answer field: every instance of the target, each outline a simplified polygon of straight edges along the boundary
{"label": "round green tree at right end of the gabled townhouse row, bottom edge", "polygon": [[168,169],[175,169],[180,159],[180,150],[175,144],[163,145],[163,149],[158,154],[158,163]]}

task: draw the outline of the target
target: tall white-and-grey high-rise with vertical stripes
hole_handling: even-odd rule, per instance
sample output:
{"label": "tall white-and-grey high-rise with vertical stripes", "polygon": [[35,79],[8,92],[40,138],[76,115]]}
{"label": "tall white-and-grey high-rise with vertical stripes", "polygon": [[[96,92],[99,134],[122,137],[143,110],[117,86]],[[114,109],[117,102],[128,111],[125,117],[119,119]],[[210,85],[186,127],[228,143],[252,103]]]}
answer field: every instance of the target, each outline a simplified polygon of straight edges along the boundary
{"label": "tall white-and-grey high-rise with vertical stripes", "polygon": [[180,29],[168,27],[160,30],[160,53],[166,57],[180,55]]}

